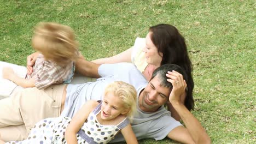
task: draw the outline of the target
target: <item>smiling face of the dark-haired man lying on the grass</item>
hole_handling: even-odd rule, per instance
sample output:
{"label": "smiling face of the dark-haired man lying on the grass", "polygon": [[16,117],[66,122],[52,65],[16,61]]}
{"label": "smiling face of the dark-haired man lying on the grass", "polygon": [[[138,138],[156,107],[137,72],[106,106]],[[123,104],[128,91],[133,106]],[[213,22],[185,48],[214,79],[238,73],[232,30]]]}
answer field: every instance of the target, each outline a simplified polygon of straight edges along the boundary
{"label": "smiling face of the dark-haired man lying on the grass", "polygon": [[156,75],[139,95],[139,108],[146,112],[157,111],[167,102],[170,93],[171,89],[161,86]]}

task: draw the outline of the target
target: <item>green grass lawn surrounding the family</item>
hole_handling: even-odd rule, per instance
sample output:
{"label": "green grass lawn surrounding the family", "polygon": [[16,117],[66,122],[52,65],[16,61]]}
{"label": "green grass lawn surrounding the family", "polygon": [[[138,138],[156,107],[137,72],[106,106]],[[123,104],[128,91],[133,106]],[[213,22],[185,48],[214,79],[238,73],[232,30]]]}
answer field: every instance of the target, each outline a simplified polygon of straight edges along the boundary
{"label": "green grass lawn surrounding the family", "polygon": [[[40,21],[71,26],[88,59],[115,55],[170,23],[194,66],[193,114],[212,143],[255,143],[255,1],[3,1],[0,61],[25,65]],[[139,143],[176,143],[142,140]]]}

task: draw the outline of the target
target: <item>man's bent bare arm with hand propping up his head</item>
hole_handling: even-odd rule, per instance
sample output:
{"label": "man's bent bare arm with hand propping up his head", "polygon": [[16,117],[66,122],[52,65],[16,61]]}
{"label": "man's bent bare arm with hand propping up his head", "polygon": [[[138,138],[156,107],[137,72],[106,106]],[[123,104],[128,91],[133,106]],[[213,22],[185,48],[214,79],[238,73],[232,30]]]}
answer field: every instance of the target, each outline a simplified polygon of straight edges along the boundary
{"label": "man's bent bare arm with hand propping up his head", "polygon": [[183,80],[183,76],[176,71],[168,71],[166,76],[170,78],[167,81],[171,82],[173,85],[169,101],[179,116],[181,116],[182,121],[187,127],[177,127],[170,131],[167,136],[173,140],[184,143],[211,143],[211,139],[207,135],[205,129],[203,129],[201,123],[182,104],[180,97],[187,87],[187,83]]}

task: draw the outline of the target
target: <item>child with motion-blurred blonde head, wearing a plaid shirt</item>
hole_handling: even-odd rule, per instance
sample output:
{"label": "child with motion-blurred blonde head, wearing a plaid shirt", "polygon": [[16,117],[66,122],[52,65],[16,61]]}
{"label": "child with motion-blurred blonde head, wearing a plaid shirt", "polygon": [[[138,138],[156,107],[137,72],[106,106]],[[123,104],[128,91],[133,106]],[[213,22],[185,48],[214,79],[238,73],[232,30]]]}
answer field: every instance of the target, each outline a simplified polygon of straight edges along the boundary
{"label": "child with motion-blurred blonde head, wearing a plaid shirt", "polygon": [[3,78],[17,85],[44,89],[54,83],[69,83],[74,75],[78,44],[73,30],[58,23],[41,22],[36,26],[32,47],[39,54],[32,74],[19,77],[13,69],[3,68]]}

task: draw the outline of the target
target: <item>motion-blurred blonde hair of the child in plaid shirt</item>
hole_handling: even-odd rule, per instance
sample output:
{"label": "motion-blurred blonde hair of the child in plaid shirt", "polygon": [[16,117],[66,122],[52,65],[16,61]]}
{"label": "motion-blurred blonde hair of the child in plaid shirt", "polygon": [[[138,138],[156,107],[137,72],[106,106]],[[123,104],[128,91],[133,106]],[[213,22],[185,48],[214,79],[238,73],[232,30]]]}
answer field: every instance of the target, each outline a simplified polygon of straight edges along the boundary
{"label": "motion-blurred blonde hair of the child in plaid shirt", "polygon": [[71,27],[54,22],[40,22],[32,38],[34,50],[42,53],[45,60],[66,65],[78,57],[78,43]]}

